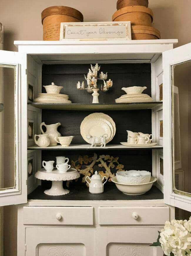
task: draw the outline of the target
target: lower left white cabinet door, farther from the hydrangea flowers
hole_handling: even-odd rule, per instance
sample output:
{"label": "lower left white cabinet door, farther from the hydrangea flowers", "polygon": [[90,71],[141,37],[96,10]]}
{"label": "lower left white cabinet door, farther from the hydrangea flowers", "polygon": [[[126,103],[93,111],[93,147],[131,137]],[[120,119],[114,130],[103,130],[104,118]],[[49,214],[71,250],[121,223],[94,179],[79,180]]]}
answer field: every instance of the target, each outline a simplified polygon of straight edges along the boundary
{"label": "lower left white cabinet door, farther from the hydrangea flowers", "polygon": [[26,228],[26,256],[96,256],[96,229]]}

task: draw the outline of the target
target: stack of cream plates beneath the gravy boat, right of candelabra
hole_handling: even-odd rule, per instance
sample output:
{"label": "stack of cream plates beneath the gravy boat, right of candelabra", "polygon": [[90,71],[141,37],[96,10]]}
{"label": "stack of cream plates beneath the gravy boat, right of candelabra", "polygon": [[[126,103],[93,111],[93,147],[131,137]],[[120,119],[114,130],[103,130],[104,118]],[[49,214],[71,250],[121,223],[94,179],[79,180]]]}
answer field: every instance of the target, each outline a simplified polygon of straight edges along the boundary
{"label": "stack of cream plates beneath the gravy boat, right of candelabra", "polygon": [[148,94],[124,94],[120,98],[115,100],[116,103],[127,102],[153,102],[153,99]]}

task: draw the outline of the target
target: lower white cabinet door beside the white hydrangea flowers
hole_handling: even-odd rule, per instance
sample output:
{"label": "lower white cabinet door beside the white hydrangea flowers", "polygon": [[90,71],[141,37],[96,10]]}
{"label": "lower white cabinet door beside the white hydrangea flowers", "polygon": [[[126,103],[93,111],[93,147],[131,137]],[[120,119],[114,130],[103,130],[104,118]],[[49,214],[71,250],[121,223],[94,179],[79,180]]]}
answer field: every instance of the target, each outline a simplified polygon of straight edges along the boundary
{"label": "lower white cabinet door beside the white hydrangea flowers", "polygon": [[160,228],[98,227],[96,256],[162,256],[157,241]]}

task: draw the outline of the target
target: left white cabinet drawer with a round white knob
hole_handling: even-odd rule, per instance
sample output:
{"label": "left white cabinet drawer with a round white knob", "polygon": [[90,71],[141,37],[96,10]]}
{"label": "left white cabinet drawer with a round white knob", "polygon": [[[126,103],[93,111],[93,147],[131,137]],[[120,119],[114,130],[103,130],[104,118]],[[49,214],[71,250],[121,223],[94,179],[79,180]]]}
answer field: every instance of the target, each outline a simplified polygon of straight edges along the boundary
{"label": "left white cabinet drawer with a round white knob", "polygon": [[93,207],[24,207],[25,225],[93,225]]}

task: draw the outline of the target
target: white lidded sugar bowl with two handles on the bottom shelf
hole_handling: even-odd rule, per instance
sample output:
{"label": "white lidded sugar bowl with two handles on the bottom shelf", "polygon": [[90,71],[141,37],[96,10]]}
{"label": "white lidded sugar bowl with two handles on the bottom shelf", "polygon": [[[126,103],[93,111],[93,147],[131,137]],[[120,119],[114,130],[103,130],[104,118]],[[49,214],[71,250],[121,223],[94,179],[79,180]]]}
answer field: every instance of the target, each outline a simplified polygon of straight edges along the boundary
{"label": "white lidded sugar bowl with two handles on the bottom shelf", "polygon": [[[87,178],[89,178],[90,182],[87,181]],[[92,177],[86,176],[86,182],[88,182],[89,184],[89,192],[92,194],[103,193],[105,182],[102,183],[102,181],[104,180],[104,178],[106,179],[106,182],[108,180],[107,177],[104,176],[102,179],[97,171],[94,175],[92,175]]]}

